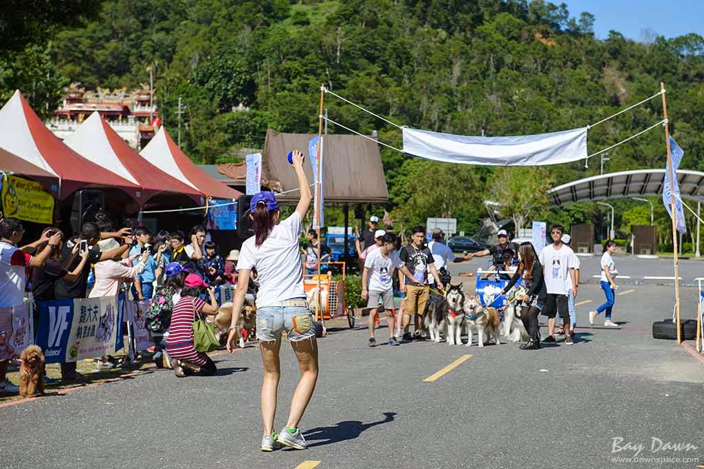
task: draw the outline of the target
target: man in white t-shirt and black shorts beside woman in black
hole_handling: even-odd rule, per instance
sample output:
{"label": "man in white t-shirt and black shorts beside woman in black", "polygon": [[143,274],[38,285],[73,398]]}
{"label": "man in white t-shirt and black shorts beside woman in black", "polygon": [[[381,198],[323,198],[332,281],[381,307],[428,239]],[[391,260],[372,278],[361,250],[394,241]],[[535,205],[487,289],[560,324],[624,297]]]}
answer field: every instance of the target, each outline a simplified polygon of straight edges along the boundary
{"label": "man in white t-shirt and black shorts beside woman in black", "polygon": [[[570,311],[567,303],[567,295],[577,298],[577,281],[574,273],[574,251],[565,244],[562,244],[562,235],[565,229],[561,225],[553,225],[550,236],[553,244],[548,244],[540,251],[538,256],[543,265],[545,286],[548,291],[545,308],[542,314],[548,316],[548,337],[543,342],[555,342],[553,330],[555,330],[555,315],[560,313],[562,321],[570,319]],[[570,282],[572,284],[570,285]],[[572,344],[572,335],[565,334],[565,344]]]}

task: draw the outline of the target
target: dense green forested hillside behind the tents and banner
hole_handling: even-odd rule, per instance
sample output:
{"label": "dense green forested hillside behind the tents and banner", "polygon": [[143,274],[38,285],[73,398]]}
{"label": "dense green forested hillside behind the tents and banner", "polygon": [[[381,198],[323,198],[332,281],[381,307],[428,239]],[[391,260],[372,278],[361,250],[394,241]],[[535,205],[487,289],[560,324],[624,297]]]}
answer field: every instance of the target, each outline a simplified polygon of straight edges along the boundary
{"label": "dense green forested hillside behind the tents and banner", "polygon": [[[317,131],[320,83],[399,124],[498,136],[593,123],[654,94],[664,81],[670,129],[686,152],[682,168],[704,170],[704,39],[698,35],[634,42],[613,31],[597,40],[589,13],[574,18],[564,5],[542,0],[110,0],[78,23],[39,41],[51,58],[40,64],[51,72],[44,75],[58,85],[135,87],[149,81],[147,67],[156,65],[164,123],[175,125],[182,97],[184,149],[201,162],[230,161],[234,149],[261,146],[267,127]],[[2,73],[12,57],[5,68],[0,59],[2,96],[20,80]],[[249,111],[232,112],[240,104]],[[326,107],[333,120],[401,144],[395,127],[341,101],[328,99]],[[653,100],[591,131],[589,151],[660,119],[660,101]],[[620,146],[606,170],[662,168],[663,142],[662,132],[653,131]],[[386,149],[382,155],[388,208],[405,226],[456,216],[470,232],[486,213],[482,201],[497,195],[493,181],[532,172],[539,177],[526,180],[534,181],[529,189],[539,197],[543,185],[599,170],[598,161],[589,168],[582,162],[494,170]],[[648,211],[632,201],[617,208],[623,223],[649,222]],[[562,223],[601,219],[593,204],[549,216],[542,211],[534,215]]]}

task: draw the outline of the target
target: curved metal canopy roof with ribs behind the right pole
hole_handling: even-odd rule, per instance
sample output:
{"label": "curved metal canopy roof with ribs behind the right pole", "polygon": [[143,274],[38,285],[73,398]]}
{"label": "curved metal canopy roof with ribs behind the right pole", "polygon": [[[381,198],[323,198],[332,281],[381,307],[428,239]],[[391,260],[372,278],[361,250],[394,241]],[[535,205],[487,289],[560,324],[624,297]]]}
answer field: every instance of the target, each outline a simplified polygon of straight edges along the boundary
{"label": "curved metal canopy roof with ribs behind the right pole", "polygon": [[[548,196],[551,207],[618,197],[658,196],[662,194],[664,179],[664,168],[620,171],[567,182],[550,189]],[[704,202],[704,173],[677,170],[677,180],[682,199]]]}

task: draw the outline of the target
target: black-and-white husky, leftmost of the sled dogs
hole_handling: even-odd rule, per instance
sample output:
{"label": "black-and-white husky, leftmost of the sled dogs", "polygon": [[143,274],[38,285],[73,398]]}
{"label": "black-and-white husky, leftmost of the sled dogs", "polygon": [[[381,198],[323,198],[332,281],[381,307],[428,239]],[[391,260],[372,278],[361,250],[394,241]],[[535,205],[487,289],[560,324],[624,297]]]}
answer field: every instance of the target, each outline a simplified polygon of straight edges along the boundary
{"label": "black-and-white husky, leftmost of the sled dogs", "polygon": [[445,296],[440,301],[429,304],[428,311],[423,318],[425,329],[430,334],[430,339],[436,344],[441,341],[441,333],[447,327],[447,343],[460,345],[460,335],[465,313],[462,309],[465,302],[462,284],[449,285]]}

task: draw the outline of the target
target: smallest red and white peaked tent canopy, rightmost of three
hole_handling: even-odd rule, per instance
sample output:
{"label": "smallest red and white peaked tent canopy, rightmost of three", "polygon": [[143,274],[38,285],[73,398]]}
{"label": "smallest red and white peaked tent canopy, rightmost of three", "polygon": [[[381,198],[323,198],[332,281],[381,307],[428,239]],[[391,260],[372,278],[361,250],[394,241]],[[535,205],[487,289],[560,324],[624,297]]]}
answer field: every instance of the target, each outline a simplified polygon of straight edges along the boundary
{"label": "smallest red and white peaked tent canopy, rightmost of three", "polygon": [[184,154],[161,127],[139,153],[146,161],[213,199],[237,199],[241,192],[213,179]]}

